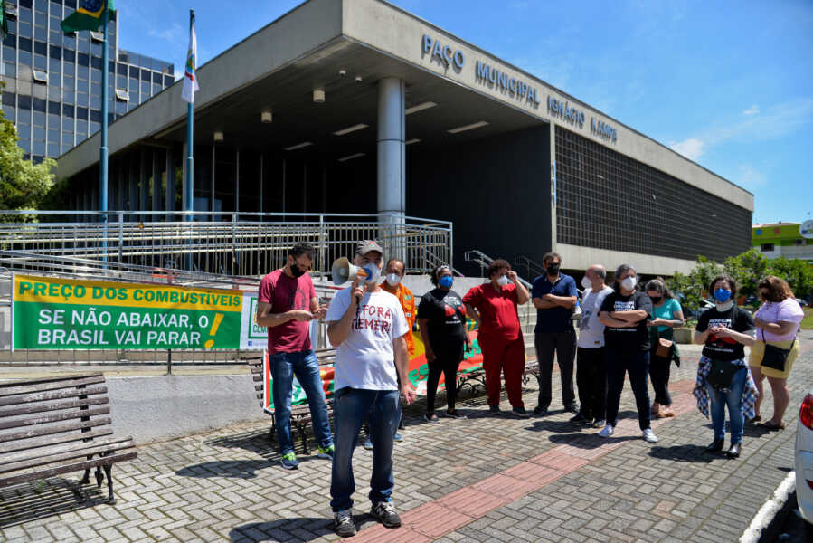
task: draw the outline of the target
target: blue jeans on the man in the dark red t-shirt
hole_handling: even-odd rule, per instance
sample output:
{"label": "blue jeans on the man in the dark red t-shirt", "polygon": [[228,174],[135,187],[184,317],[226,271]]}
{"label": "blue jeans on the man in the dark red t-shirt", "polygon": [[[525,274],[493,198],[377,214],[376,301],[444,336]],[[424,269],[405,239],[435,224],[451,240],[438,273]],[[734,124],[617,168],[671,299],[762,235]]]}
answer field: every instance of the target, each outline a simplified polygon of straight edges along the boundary
{"label": "blue jeans on the man in the dark red t-shirt", "polygon": [[274,420],[277,426],[279,452],[294,452],[291,441],[291,394],[294,376],[305,391],[310,418],[313,421],[314,437],[319,446],[326,448],[333,444],[330,436],[330,422],[327,420],[325,391],[322,377],[319,376],[319,361],[312,350],[299,353],[277,353],[269,357],[271,378],[274,380]]}

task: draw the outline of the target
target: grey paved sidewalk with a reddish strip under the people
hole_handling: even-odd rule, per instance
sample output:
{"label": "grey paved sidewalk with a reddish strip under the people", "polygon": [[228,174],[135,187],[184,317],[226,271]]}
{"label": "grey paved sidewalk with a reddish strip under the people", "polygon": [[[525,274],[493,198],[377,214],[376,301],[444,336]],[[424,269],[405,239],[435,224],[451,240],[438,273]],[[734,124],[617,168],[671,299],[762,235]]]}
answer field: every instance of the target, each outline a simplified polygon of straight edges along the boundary
{"label": "grey paved sidewalk with a reddish strip under the people", "polygon": [[[712,431],[691,396],[695,347],[683,348],[682,367],[673,366],[677,416],[654,422],[654,445],[640,439],[629,383],[609,440],[569,424],[561,410],[529,420],[490,416],[484,396],[458,406],[468,419],[424,424],[421,402],[407,409],[405,439],[395,446],[393,499],[403,528],[383,529],[364,514],[372,455],[360,446],[361,531],[350,540],[736,541],[792,470],[795,419],[813,383],[813,334],[802,335],[802,348],[788,429],[747,425],[733,461],[703,451]],[[772,410],[766,389],[763,417]],[[554,409],[559,393],[554,387]],[[532,381],[528,408],[535,395]],[[248,424],[139,448],[137,461],[113,468],[115,506],[78,506],[59,479],[2,489],[0,540],[335,541],[329,462],[300,456],[297,471],[282,470],[268,429]]]}

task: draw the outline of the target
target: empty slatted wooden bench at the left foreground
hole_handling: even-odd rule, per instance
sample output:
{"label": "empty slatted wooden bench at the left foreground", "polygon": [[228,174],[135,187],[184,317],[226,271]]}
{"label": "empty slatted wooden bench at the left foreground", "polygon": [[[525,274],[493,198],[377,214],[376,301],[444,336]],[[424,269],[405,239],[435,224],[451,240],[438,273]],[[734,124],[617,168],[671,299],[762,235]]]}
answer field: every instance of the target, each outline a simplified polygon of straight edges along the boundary
{"label": "empty slatted wooden bench at the left foreground", "polygon": [[85,500],[81,487],[96,468],[97,486],[107,477],[107,503],[116,503],[111,468],[138,453],[132,437],[113,436],[107,392],[102,374],[0,384],[0,487],[84,471],[71,491]]}

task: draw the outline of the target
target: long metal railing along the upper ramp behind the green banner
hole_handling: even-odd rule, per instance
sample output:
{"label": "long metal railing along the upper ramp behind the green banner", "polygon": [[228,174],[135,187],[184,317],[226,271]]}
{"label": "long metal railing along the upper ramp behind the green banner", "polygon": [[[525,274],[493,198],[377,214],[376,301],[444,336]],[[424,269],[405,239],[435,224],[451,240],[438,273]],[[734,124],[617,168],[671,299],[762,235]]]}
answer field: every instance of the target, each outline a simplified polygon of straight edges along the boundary
{"label": "long metal railing along the upper ramp behind the green banner", "polygon": [[[379,214],[186,212],[190,216],[184,221],[175,220],[183,219],[184,212],[7,213],[40,214],[43,216],[35,218],[56,221],[0,223],[0,250],[149,267],[184,267],[230,276],[256,276],[279,268],[295,240],[315,246],[313,268],[317,275],[328,273],[331,262],[339,256],[352,254],[355,243],[362,239],[379,240],[388,255],[406,262],[408,273],[427,273],[439,262],[452,262],[454,256],[451,223],[411,216],[393,224],[392,217]],[[116,220],[105,222],[102,215],[108,219],[113,215]],[[188,220],[194,217],[197,219]],[[77,222],[77,218],[93,218],[95,222]],[[145,221],[147,218],[156,220]],[[271,218],[274,220],[265,220]],[[290,221],[292,218],[302,220]]]}

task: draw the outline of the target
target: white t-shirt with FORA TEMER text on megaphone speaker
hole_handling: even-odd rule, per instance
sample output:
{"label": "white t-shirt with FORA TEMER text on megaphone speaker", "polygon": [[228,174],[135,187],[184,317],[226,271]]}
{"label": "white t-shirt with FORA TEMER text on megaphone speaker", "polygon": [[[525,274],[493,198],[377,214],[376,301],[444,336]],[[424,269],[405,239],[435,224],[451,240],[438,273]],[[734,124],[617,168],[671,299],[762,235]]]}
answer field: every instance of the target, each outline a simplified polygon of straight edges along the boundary
{"label": "white t-shirt with FORA TEMER text on megaphone speaker", "polygon": [[[350,307],[351,288],[336,292],[326,320],[340,320]],[[334,390],[398,390],[392,340],[409,330],[401,303],[387,291],[364,292],[350,334],[336,348]]]}

